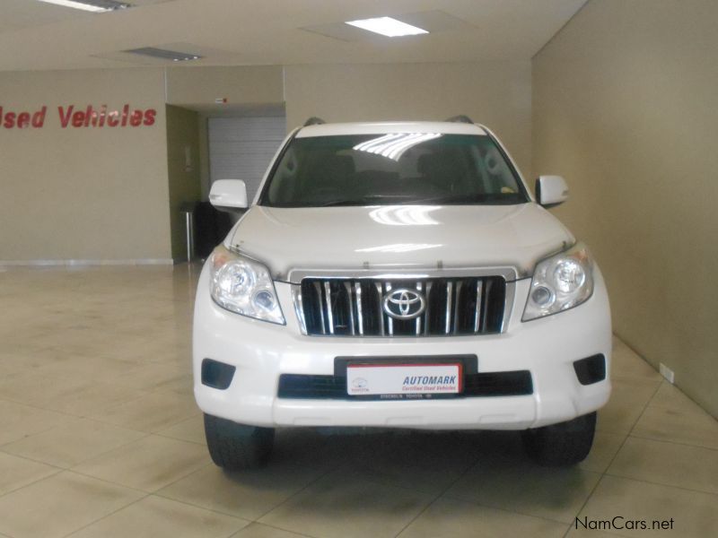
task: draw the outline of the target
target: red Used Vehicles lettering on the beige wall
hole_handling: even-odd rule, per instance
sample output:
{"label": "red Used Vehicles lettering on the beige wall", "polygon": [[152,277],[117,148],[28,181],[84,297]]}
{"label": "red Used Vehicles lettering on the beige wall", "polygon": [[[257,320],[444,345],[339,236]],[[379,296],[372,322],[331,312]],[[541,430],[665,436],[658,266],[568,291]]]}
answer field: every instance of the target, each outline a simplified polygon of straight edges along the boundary
{"label": "red Used Vehicles lettering on the beige wall", "polygon": [[[63,129],[153,126],[156,117],[157,110],[154,108],[134,108],[128,104],[121,108],[109,108],[107,105],[100,108],[94,108],[92,105],[57,107],[57,120]],[[47,118],[47,106],[33,111],[8,110],[0,106],[0,126],[5,129],[41,129]]]}

